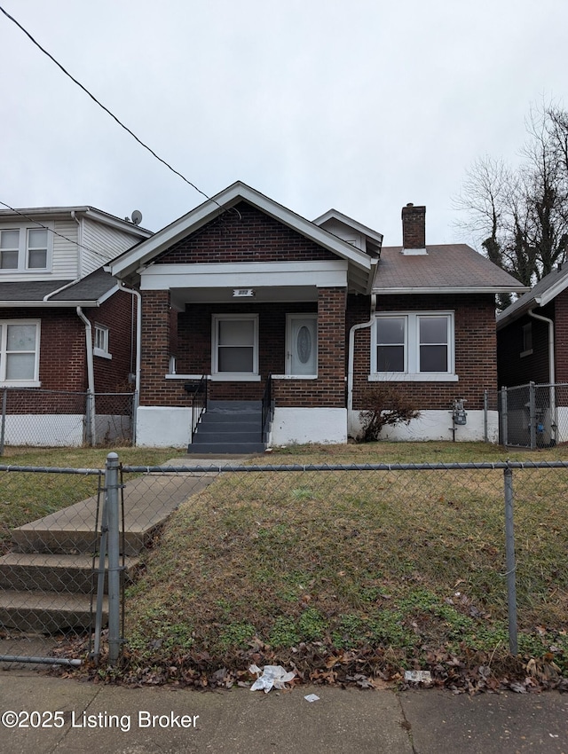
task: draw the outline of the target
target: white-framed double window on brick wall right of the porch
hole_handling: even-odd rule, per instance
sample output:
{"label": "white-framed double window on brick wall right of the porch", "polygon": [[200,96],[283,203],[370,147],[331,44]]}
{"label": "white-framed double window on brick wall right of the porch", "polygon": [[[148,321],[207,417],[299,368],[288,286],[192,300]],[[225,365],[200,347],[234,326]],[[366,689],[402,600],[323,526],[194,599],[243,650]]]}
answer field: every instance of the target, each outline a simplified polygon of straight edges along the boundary
{"label": "white-framed double window on brick wall right of the porch", "polygon": [[371,379],[454,381],[454,314],[377,314]]}

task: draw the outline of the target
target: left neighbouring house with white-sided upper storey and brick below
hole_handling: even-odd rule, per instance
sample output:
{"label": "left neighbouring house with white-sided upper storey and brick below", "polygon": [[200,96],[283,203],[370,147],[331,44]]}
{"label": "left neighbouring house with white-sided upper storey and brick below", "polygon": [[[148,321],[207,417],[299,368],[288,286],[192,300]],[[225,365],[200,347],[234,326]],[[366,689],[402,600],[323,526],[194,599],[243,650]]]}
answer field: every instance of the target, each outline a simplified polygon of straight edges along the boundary
{"label": "left neighbouring house with white-sided upper storey and brick below", "polygon": [[0,210],[6,443],[73,445],[106,434],[95,427],[94,400],[75,396],[134,390],[135,295],[104,267],[150,235],[91,207]]}

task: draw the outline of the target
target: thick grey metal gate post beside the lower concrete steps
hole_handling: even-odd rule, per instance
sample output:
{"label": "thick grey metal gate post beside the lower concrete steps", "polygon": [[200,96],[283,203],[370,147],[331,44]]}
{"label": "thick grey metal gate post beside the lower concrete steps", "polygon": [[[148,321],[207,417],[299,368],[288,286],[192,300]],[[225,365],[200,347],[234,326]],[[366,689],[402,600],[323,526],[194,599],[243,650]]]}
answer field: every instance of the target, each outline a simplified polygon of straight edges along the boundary
{"label": "thick grey metal gate post beside the lower concrete steps", "polygon": [[119,461],[116,453],[106,456],[106,511],[108,524],[108,661],[118,662],[121,648],[121,589],[119,532]]}

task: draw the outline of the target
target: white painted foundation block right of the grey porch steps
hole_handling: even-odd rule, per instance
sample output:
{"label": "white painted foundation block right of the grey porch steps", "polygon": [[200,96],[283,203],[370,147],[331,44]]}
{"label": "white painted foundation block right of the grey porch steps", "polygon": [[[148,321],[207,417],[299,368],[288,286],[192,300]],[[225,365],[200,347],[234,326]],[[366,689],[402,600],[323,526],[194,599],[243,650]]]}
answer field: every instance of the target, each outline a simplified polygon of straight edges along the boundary
{"label": "white painted foundation block right of the grey porch steps", "polygon": [[347,442],[347,409],[284,408],[276,406],[272,445]]}

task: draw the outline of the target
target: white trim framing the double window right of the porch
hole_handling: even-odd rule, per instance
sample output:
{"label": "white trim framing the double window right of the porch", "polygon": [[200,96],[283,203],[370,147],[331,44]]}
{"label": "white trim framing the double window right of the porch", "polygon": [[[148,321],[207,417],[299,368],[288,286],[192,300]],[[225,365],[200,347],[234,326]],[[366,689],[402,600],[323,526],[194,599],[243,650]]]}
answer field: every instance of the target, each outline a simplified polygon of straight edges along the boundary
{"label": "white trim framing the double window right of the porch", "polygon": [[[405,318],[405,368],[404,372],[377,372],[377,322],[381,318]],[[446,317],[448,322],[448,371],[418,372],[420,342],[418,323],[421,317]],[[455,322],[454,311],[381,311],[375,315],[371,328],[371,373],[370,382],[457,382],[455,373]]]}

